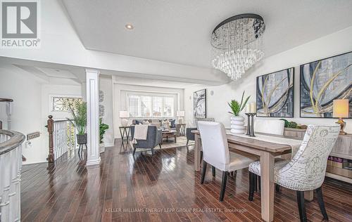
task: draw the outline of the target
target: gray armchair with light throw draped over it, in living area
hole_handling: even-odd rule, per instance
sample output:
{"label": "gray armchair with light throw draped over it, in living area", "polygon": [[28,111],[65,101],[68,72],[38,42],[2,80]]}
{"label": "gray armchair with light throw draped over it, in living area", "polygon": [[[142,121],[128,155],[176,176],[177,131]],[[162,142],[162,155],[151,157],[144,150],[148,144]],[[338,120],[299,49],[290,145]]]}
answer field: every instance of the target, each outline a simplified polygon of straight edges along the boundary
{"label": "gray armchair with light throw draped over it, in living area", "polygon": [[[131,136],[134,137],[134,126],[131,126]],[[151,149],[151,155],[154,155],[154,148],[159,145],[161,148],[162,134],[161,130],[157,129],[156,126],[148,126],[148,133],[146,134],[146,140],[137,140],[137,143],[133,144],[133,155],[137,148]]]}

